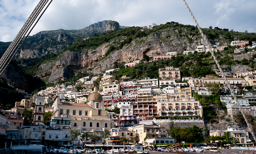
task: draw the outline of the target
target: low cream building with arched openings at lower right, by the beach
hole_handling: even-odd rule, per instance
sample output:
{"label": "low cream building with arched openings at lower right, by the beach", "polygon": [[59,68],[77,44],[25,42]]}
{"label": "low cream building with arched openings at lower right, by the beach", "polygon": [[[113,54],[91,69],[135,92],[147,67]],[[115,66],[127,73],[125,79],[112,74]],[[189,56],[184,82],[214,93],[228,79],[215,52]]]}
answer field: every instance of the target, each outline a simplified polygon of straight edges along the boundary
{"label": "low cream building with arched openings at lower right, by the beach", "polygon": [[[226,132],[229,132],[229,137],[233,137],[240,144],[250,144],[249,133],[246,129],[240,129],[239,127],[229,126],[227,130],[210,131],[210,136],[224,136]],[[218,142],[218,141],[217,141]]]}

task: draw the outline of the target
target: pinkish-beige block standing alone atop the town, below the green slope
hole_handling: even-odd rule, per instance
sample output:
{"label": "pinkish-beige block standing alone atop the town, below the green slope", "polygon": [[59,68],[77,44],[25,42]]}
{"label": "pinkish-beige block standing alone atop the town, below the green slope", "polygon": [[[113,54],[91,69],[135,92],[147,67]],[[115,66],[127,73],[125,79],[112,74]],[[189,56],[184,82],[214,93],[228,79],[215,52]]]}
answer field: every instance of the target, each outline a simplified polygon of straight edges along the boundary
{"label": "pinkish-beige block standing alone atop the town, below the green slope", "polygon": [[158,70],[159,77],[165,79],[169,78],[181,78],[181,73],[179,68],[174,68],[173,66],[166,66],[165,68],[159,68]]}

